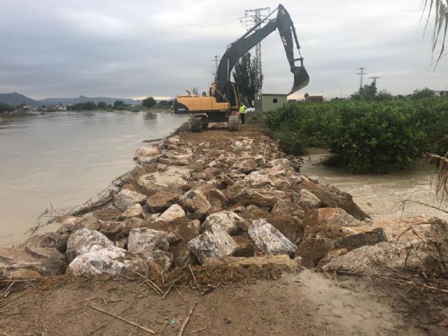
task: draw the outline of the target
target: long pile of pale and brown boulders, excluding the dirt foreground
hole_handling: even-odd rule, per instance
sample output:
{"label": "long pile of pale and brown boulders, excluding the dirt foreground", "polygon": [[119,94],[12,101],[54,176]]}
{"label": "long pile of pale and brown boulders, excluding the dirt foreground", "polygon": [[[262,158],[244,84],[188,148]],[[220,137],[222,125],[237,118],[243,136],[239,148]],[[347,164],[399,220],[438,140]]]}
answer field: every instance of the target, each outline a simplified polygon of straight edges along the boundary
{"label": "long pile of pale and brown boulders, excluding the dirt foreground", "polygon": [[[135,157],[140,165],[111,204],[60,218],[57,232],[20,248],[0,248],[3,275],[148,274],[265,255],[325,269],[404,262],[351,195],[300,174],[297,158],[259,132],[200,142],[171,137]],[[446,234],[448,225],[437,225]]]}

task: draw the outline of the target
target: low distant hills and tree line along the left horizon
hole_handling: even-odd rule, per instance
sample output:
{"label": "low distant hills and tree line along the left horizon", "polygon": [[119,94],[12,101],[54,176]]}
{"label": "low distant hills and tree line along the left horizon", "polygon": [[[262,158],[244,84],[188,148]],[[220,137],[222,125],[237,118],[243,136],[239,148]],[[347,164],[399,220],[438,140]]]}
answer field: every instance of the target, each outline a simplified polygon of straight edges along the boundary
{"label": "low distant hills and tree line along the left horizon", "polygon": [[105,102],[106,104],[113,104],[116,100],[121,100],[125,104],[141,104],[141,100],[135,99],[125,99],[125,98],[111,98],[111,97],[85,97],[80,96],[77,98],[46,98],[42,100],[34,100],[23,94],[14,93],[0,93],[0,102],[8,104],[10,106],[19,106],[21,104],[29,106],[42,106],[42,105],[57,105],[62,104],[64,106],[76,103],[84,102],[94,102],[98,104],[99,102]]}

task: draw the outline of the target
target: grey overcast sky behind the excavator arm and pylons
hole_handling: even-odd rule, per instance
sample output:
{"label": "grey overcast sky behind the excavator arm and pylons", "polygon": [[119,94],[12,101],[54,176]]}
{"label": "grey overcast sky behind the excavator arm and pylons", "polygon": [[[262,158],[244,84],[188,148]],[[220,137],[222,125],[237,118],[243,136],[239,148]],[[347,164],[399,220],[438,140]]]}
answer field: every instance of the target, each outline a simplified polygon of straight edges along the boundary
{"label": "grey overcast sky behind the excavator arm and pylons", "polygon": [[[380,89],[448,90],[448,57],[435,71],[421,0],[285,0],[311,78],[309,92],[348,96],[357,68]],[[211,59],[244,34],[244,10],[274,1],[0,0],[0,92],[45,97],[172,97],[207,90]],[[279,35],[262,41],[263,92],[293,84]]]}

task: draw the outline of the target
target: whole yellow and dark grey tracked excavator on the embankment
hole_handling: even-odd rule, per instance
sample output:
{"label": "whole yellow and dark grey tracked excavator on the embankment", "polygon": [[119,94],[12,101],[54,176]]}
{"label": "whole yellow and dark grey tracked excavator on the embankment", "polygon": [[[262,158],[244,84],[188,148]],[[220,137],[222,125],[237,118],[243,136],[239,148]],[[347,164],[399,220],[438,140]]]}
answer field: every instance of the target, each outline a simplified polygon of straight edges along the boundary
{"label": "whole yellow and dark grey tracked excavator on the embankment", "polygon": [[[276,13],[276,17],[272,18],[274,13]],[[239,130],[240,100],[237,86],[230,79],[232,69],[246,52],[276,29],[279,30],[290,71],[294,75],[294,84],[289,94],[308,85],[309,76],[303,65],[294,23],[286,8],[279,4],[265,19],[260,20],[257,25],[246,31],[246,34],[228,45],[221,57],[215,82],[210,87],[209,95],[203,93],[200,96],[188,92],[188,94],[179,95],[174,99],[174,113],[192,114],[190,125],[193,132],[207,129],[209,123],[228,123],[229,130]],[[294,58],[293,41],[295,41],[300,55],[300,58],[297,59]],[[297,61],[300,61],[300,66],[295,65]]]}

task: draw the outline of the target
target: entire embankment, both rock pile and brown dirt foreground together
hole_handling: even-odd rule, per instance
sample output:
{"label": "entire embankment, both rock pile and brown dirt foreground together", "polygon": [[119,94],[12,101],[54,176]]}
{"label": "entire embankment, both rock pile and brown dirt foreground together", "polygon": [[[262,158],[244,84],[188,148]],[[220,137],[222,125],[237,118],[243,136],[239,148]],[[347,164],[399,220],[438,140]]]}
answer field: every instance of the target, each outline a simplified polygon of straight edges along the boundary
{"label": "entire embankment, both rock pile and brown dirt foreground together", "polygon": [[440,239],[446,223],[372,223],[351,195],[301,174],[299,158],[250,126],[183,130],[151,145],[97,207],[1,249],[11,260],[4,275],[22,279],[3,287],[8,335],[125,335],[139,325],[178,335],[183,323],[185,335],[446,332],[446,287],[412,273],[430,249],[412,232],[398,237],[413,225]]}

